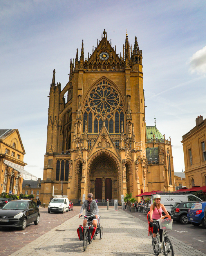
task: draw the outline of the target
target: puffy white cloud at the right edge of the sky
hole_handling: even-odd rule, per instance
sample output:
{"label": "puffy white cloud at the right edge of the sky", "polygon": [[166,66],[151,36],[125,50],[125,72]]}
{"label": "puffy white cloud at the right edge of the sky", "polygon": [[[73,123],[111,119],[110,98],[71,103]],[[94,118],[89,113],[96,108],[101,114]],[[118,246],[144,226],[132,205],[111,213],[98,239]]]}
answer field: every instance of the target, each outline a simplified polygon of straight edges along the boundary
{"label": "puffy white cloud at the right edge of the sky", "polygon": [[206,46],[192,55],[189,65],[191,73],[206,74]]}

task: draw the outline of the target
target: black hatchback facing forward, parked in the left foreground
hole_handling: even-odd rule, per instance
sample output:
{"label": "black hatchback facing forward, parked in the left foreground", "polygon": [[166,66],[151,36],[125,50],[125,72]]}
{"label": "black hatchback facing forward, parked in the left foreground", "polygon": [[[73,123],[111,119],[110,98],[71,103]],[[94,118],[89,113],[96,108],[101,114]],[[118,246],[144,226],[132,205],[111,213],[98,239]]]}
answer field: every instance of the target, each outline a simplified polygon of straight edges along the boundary
{"label": "black hatchback facing forward, parked in the left foreground", "polygon": [[13,200],[0,209],[0,227],[20,227],[24,230],[28,223],[39,223],[39,209],[31,200]]}

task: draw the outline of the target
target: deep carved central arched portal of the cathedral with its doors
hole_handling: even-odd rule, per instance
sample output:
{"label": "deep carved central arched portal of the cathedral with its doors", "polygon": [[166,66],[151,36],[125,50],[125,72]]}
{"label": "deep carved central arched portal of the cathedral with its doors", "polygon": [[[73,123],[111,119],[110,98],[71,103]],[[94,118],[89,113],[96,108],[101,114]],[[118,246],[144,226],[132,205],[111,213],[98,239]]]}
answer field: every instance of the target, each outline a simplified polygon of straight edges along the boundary
{"label": "deep carved central arched portal of the cathedral with its doors", "polygon": [[89,170],[88,189],[96,199],[118,199],[118,170],[107,156],[93,161]]}

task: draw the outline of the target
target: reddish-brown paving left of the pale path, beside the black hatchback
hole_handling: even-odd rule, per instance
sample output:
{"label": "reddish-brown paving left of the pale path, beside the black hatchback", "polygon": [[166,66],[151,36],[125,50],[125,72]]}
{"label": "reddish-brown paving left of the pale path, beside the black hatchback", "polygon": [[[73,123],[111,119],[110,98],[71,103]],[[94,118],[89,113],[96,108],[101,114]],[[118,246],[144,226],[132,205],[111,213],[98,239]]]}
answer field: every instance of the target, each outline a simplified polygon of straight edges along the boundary
{"label": "reddish-brown paving left of the pale path, beside the black hatchback", "polygon": [[77,206],[74,206],[73,211],[61,213],[48,214],[47,208],[39,207],[40,219],[39,224],[28,224],[25,230],[18,228],[0,228],[0,255],[8,256],[26,244],[36,240],[36,238],[47,233],[51,229],[64,223],[69,218],[75,216],[79,211]]}

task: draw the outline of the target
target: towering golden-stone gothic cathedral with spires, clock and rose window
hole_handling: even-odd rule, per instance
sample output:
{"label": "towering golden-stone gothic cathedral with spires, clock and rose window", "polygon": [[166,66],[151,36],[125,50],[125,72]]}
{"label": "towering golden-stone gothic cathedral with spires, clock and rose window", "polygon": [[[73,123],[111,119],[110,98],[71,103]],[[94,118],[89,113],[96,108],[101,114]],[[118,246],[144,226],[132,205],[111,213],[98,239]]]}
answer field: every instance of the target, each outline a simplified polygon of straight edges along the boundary
{"label": "towering golden-stone gothic cathedral with spires, clock and rose window", "polygon": [[[71,200],[89,192],[97,199],[120,200],[122,194],[135,196],[142,188],[168,189],[167,160],[161,159],[161,167],[159,162],[148,165],[146,148],[157,147],[165,156],[169,148],[172,156],[171,142],[147,141],[144,101],[142,51],[136,37],[132,50],[126,34],[121,55],[104,30],[88,58],[82,40],[80,57],[77,49],[63,89],[53,71],[43,203],[50,201],[53,186],[54,194],[61,194],[61,183],[63,195]],[[170,161],[173,171],[172,157]],[[153,170],[158,175],[153,176]],[[174,173],[171,180],[173,189]]]}

